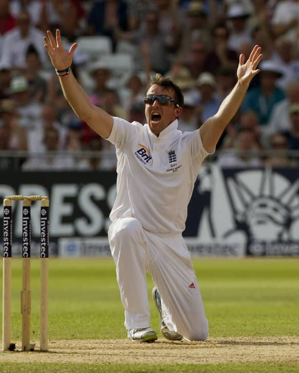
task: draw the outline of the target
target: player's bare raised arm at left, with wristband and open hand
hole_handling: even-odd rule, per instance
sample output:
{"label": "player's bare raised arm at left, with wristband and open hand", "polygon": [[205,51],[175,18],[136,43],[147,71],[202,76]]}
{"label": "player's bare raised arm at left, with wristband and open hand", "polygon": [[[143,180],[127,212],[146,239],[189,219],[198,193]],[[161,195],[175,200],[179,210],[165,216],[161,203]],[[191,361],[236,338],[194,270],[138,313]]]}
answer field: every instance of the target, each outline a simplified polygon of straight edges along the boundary
{"label": "player's bare raised arm at left, with wristband and open hand", "polygon": [[47,31],[47,37],[44,37],[44,41],[46,43],[45,48],[59,76],[64,97],[74,113],[100,136],[109,137],[113,127],[113,118],[104,110],[90,103],[83,88],[77,82],[71,70],[68,70],[77,43],[72,44],[69,51],[65,50],[62,46],[60,30],[56,30],[56,40],[51,31]]}

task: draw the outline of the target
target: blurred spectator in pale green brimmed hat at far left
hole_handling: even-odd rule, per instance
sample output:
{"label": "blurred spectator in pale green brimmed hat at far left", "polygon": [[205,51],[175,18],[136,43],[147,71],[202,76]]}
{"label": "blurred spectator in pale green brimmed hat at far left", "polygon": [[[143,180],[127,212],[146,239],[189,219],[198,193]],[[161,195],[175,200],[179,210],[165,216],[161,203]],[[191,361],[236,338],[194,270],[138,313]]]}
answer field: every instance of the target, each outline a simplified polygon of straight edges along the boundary
{"label": "blurred spectator in pale green brimmed hat at far left", "polygon": [[27,130],[38,126],[42,105],[30,97],[29,84],[24,76],[17,76],[11,80],[8,90],[9,97],[16,101],[17,112],[20,115],[20,124]]}

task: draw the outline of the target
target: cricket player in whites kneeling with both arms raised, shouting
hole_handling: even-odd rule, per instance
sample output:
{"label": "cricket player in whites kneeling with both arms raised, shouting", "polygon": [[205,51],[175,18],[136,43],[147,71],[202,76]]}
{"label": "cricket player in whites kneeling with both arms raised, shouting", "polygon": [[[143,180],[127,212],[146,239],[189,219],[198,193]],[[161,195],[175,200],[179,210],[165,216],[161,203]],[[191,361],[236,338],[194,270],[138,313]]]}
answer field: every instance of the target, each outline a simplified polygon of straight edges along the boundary
{"label": "cricket player in whites kneeling with both arms raised, shouting", "polygon": [[66,51],[60,30],[55,38],[47,31],[44,41],[73,111],[116,147],[117,198],[108,237],[128,338],[141,342],[157,339],[150,327],[148,272],[155,283],[152,296],[163,336],[172,341],[207,339],[208,321],[182,232],[200,165],[214,152],[251,79],[259,72],[261,48],[256,45],[248,61],[240,55],[238,81],[218,112],[199,130],[182,133],[177,127],[183,95],[171,80],[156,75],[144,97],[147,124],[129,123],[89,102],[71,73],[76,43]]}

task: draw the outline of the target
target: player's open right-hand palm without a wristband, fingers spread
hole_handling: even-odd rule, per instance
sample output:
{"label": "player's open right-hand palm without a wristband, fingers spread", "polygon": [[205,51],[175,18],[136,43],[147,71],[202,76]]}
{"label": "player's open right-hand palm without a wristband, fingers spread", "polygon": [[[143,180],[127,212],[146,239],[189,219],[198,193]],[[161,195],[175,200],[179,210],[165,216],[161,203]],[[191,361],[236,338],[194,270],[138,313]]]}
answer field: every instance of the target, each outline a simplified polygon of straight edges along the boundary
{"label": "player's open right-hand palm without a wristband, fingers spread", "polygon": [[260,51],[261,47],[255,45],[246,63],[244,63],[245,56],[243,54],[240,55],[237,77],[242,85],[249,85],[251,79],[259,73],[260,70],[256,69],[256,66],[263,58]]}

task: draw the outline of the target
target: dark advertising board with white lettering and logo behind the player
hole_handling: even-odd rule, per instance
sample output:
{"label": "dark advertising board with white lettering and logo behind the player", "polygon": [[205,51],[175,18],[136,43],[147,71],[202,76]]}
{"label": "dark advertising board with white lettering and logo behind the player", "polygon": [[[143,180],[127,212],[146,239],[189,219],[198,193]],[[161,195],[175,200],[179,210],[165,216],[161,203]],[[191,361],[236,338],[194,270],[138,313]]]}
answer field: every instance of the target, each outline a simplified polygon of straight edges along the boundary
{"label": "dark advertising board with white lettering and logo behind the player", "polygon": [[[1,176],[1,173],[0,173]],[[115,172],[2,173],[0,198],[49,196],[50,255],[110,255]],[[184,237],[193,255],[299,255],[299,169],[203,166]],[[142,192],[142,191],[141,191]],[[1,209],[1,220],[3,219]],[[21,253],[22,204],[13,203],[13,254]],[[32,255],[39,252],[40,204],[33,202]],[[3,224],[3,222],[2,222]]]}

